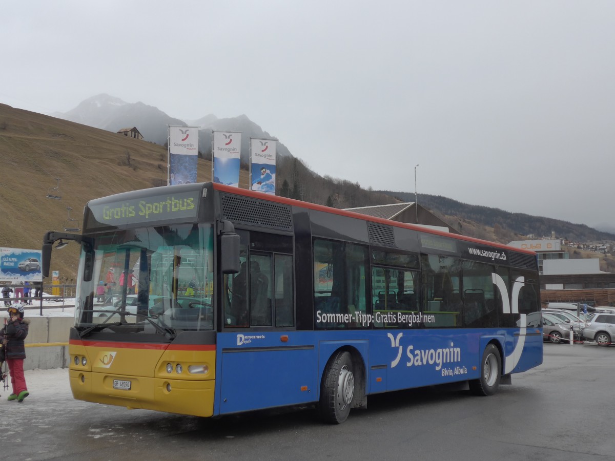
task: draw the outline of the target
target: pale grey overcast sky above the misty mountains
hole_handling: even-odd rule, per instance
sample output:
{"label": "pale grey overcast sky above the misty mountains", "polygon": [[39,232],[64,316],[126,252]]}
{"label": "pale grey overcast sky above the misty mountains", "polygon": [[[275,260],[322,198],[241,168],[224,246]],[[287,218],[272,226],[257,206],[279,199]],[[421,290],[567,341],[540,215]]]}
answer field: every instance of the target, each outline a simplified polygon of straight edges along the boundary
{"label": "pale grey overcast sky above the misty mountains", "polygon": [[0,102],[245,114],[320,175],[615,227],[615,2],[14,1]]}

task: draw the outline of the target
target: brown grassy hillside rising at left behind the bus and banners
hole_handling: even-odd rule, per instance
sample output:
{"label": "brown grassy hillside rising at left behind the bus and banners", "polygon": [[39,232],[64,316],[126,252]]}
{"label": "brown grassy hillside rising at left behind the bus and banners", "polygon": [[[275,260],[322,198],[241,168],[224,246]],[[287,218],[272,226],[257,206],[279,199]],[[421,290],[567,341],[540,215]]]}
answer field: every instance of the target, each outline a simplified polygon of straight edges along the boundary
{"label": "brown grassy hillside rising at left behind the bus and banners", "polygon": [[[166,184],[167,149],[0,104],[0,165],[0,246],[38,249],[47,230],[69,224],[66,207],[81,227],[88,200]],[[210,181],[211,172],[211,162],[199,159],[198,181]],[[240,186],[247,183],[242,171]],[[62,200],[47,199],[49,192]],[[77,254],[76,245],[54,252],[51,270],[74,277]]]}

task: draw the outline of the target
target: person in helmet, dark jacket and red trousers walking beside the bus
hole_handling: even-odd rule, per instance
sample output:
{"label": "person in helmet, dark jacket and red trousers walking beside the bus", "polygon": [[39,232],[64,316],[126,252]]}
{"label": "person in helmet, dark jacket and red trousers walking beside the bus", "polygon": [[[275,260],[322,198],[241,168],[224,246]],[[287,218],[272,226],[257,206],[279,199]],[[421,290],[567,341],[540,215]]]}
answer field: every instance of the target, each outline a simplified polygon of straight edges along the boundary
{"label": "person in helmet, dark jacket and red trousers walking beside the bus", "polygon": [[7,310],[9,322],[0,330],[0,340],[6,354],[6,363],[9,365],[10,384],[13,387],[13,393],[7,400],[22,403],[23,399],[30,395],[23,375],[23,359],[26,358],[23,340],[28,336],[30,320],[23,320],[23,305],[19,302]]}

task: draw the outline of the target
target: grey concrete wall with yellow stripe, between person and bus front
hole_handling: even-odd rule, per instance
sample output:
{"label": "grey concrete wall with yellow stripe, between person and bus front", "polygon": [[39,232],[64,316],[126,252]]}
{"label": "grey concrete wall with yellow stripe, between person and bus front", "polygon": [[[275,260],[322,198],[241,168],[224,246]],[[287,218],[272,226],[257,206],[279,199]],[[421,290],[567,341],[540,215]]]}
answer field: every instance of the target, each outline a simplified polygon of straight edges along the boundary
{"label": "grey concrete wall with yellow stripe, between person and bus front", "polygon": [[68,333],[73,317],[29,317],[23,369],[68,367]]}

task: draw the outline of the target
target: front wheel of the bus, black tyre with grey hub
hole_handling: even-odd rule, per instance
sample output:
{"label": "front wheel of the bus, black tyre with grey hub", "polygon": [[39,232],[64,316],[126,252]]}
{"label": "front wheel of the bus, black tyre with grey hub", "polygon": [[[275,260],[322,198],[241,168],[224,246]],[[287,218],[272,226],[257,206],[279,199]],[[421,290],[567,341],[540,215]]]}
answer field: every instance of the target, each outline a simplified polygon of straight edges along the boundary
{"label": "front wheel of the bus, black tyre with grey hub", "polygon": [[320,417],[331,424],[348,418],[354,396],[354,374],[349,352],[339,351],[327,363],[320,385]]}

